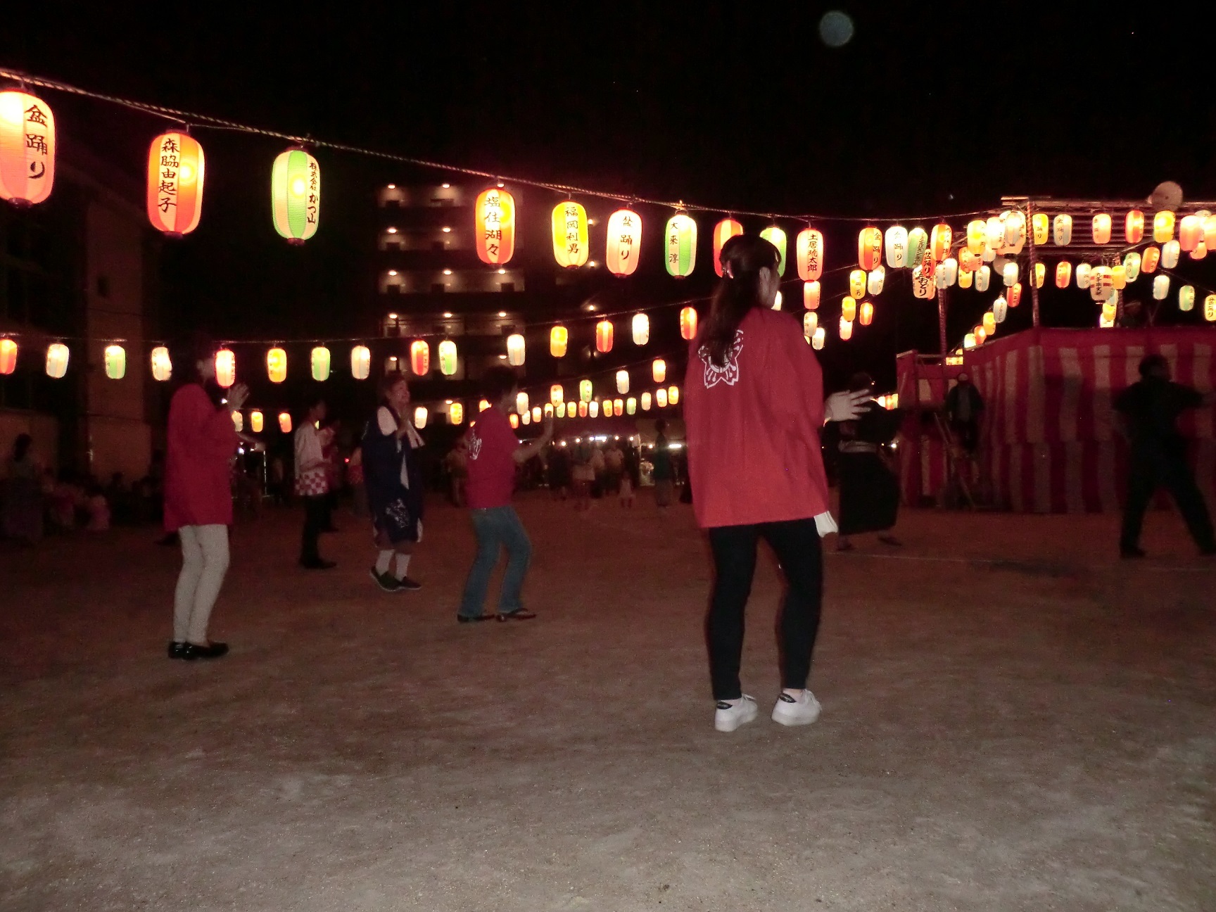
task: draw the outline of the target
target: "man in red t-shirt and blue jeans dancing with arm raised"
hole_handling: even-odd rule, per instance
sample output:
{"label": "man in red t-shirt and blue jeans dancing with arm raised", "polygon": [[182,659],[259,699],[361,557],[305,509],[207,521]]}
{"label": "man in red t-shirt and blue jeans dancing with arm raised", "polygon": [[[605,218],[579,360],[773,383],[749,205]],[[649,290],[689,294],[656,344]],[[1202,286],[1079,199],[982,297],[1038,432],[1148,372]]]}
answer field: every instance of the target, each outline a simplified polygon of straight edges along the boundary
{"label": "man in red t-shirt and blue jeans dancing with arm raised", "polygon": [[[510,367],[491,367],[483,378],[485,399],[490,407],[477,416],[468,430],[468,496],[469,516],[477,534],[477,557],[465,580],[456,620],[471,624],[478,620],[531,620],[536,615],[524,610],[519,590],[524,585],[531,542],[523,523],[511,506],[516,486],[516,466],[527,462],[553,439],[553,418],[545,420],[545,433],[520,444],[507,417],[516,407],[519,384]],[[485,590],[490,574],[499,562],[499,551],[507,548],[507,572],[502,576],[499,613],[485,614]]]}

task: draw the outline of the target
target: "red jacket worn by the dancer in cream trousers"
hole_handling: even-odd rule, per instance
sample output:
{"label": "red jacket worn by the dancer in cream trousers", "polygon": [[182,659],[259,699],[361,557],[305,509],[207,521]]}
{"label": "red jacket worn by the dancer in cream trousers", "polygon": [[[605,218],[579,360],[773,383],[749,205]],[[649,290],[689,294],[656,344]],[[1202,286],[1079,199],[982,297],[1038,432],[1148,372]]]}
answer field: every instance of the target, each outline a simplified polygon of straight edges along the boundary
{"label": "red jacket worn by the dancer in cream trousers", "polygon": [[229,460],[236,452],[232,416],[216,409],[197,383],[169,402],[169,452],[164,469],[164,528],[231,525]]}

